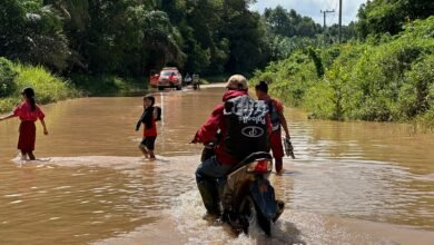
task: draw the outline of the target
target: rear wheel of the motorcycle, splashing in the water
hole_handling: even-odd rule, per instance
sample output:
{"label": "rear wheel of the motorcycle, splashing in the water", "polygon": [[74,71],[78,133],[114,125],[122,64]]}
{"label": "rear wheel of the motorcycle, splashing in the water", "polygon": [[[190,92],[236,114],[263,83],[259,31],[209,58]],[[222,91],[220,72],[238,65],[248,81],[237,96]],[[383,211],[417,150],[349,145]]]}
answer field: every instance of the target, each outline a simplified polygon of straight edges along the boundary
{"label": "rear wheel of the motorcycle, splashing in the water", "polygon": [[267,236],[272,235],[272,220],[268,220],[260,213],[259,207],[250,196],[247,196],[240,205],[240,214],[245,217],[243,220],[243,232],[248,234],[248,227],[257,223]]}

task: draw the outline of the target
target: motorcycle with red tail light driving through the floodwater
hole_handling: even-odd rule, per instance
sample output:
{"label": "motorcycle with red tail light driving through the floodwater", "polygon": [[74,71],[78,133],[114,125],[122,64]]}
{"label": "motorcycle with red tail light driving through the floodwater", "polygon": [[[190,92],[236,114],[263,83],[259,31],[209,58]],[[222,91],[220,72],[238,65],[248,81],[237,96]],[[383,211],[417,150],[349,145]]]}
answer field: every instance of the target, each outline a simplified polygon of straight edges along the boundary
{"label": "motorcycle with red tail light driving through the floodwater", "polygon": [[[204,157],[211,156],[213,147],[206,147]],[[285,203],[275,198],[268,180],[273,169],[268,153],[253,153],[236,164],[226,178],[215,180],[220,207],[220,219],[235,231],[248,234],[248,228],[257,224],[267,236],[272,235],[275,223],[285,208]]]}

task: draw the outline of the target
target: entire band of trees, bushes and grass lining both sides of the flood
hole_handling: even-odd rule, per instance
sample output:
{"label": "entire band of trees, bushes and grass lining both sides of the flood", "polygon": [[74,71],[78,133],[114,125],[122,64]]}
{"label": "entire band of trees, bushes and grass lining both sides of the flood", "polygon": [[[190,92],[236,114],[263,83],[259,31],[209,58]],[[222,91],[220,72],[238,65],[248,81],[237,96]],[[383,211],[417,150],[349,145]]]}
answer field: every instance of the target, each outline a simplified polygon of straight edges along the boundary
{"label": "entire band of trees, bushes and grass lining both sides of the flood", "polygon": [[337,24],[279,6],[259,14],[253,2],[2,0],[0,57],[13,63],[0,59],[0,96],[16,98],[30,81],[53,101],[48,88],[71,96],[66,80],[114,94],[142,85],[119,77],[144,80],[164,66],[203,77],[266,67],[253,80],[268,80],[274,95],[313,117],[434,124],[432,1],[367,1],[342,28],[342,45]]}

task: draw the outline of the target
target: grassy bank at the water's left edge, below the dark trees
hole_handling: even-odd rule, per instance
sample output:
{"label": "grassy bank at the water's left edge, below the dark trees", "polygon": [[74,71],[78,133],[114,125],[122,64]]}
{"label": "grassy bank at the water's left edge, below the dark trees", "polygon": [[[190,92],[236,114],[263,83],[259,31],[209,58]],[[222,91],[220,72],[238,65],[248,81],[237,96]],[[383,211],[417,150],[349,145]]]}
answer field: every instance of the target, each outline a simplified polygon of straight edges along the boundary
{"label": "grassy bank at the water's left edge, below the dark trees", "polygon": [[[22,100],[20,91],[32,87],[40,105],[86,96],[124,96],[146,92],[147,78],[120,78],[111,75],[72,75],[70,80],[51,74],[41,66],[28,66],[3,59],[4,69],[11,70],[13,89],[0,97],[0,114],[11,111]],[[4,72],[3,72],[4,74]]]}

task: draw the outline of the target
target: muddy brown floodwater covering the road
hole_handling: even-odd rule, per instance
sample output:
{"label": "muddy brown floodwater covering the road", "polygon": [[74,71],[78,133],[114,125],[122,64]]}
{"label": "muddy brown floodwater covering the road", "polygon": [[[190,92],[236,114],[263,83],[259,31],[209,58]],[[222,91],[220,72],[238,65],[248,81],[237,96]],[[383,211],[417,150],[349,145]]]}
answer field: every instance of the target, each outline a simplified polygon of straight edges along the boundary
{"label": "muddy brown floodwater covering the road", "polygon": [[43,106],[36,155],[18,160],[17,119],[0,124],[0,244],[431,244],[434,137],[401,124],[307,120],[287,108],[297,159],[272,175],[287,208],[273,227],[235,236],[203,218],[189,144],[224,89],[155,91],[156,161],[137,148],[140,97]]}

